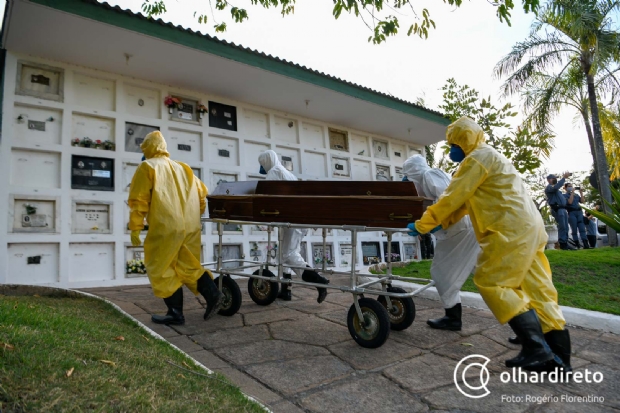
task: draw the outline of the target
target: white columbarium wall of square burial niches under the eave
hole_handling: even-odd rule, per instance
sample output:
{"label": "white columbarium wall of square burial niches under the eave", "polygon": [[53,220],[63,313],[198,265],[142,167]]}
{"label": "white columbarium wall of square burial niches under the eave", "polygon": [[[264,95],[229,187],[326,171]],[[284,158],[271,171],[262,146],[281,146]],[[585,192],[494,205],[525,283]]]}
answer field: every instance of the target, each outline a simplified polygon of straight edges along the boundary
{"label": "white columbarium wall of square burial niches under the eave", "polygon": [[[38,67],[51,70],[60,92],[16,93],[28,86]],[[209,127],[206,115],[196,121],[178,120],[177,113],[170,115],[163,105],[167,95],[234,106],[237,131]],[[1,283],[78,288],[147,282],[143,274],[125,271],[126,262],[142,254],[129,243],[127,230],[128,185],[142,156],[135,138],[126,139],[128,129],[135,129],[127,122],[159,127],[172,158],[188,163],[210,189],[220,180],[262,179],[257,158],[267,149],[276,151],[301,179],[341,181],[375,180],[381,174],[400,180],[402,162],[421,149],[208,91],[181,90],[8,52],[0,140],[0,216],[7,217],[0,220]],[[339,141],[332,149],[328,128],[346,132],[348,148]],[[111,140],[116,148],[71,145],[73,139],[86,136]],[[74,156],[105,158],[97,160],[98,165],[113,164],[113,190],[72,189]],[[99,172],[103,178],[106,173]],[[28,216],[26,204],[35,206],[36,214]],[[364,245],[358,248],[356,262],[362,265],[363,249],[382,255],[385,240],[379,232],[361,234]],[[266,241],[260,228],[229,226],[225,258],[264,257],[270,252]],[[328,241],[330,266],[348,268],[350,234],[334,231]],[[203,261],[214,259],[216,242],[214,228],[205,225]],[[411,238],[396,236],[394,242],[401,254],[407,250],[417,256]],[[309,231],[302,254],[312,260],[321,249],[321,231]]]}

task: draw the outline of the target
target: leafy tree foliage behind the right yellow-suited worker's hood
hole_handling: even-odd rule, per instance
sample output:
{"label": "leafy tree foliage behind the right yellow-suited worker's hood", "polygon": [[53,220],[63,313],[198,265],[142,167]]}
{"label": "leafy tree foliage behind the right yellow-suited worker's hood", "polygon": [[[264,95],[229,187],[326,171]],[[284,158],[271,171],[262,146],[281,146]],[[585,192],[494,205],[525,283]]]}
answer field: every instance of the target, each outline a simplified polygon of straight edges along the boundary
{"label": "leafy tree foliage behind the right yellow-suited worker's hood", "polygon": [[[496,106],[490,96],[482,98],[476,89],[460,86],[454,79],[448,79],[441,90],[443,103],[439,109],[452,122],[461,116],[475,120],[482,127],[486,142],[510,159],[520,173],[532,173],[551,154],[553,134],[533,130],[527,124],[513,127],[510,120],[517,116],[517,112],[512,104]],[[445,156],[450,148],[446,144],[443,150],[444,157],[439,161],[439,167],[451,172],[456,165]]]}

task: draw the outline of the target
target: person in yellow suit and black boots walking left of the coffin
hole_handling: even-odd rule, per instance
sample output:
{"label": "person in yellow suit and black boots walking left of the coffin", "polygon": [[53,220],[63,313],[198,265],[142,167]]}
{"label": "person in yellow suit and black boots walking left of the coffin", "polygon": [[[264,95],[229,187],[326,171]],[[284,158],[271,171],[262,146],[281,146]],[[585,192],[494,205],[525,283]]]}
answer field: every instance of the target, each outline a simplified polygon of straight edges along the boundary
{"label": "person in yellow suit and black boots walking left of the coffin", "polygon": [[200,264],[200,215],[207,205],[207,187],[188,165],[170,159],[161,132],[146,135],[140,148],[145,160],[129,188],[131,243],[142,244],[140,231],[146,217],[144,264],[153,294],[168,307],[165,316],[153,315],[152,320],[185,323],[183,285],[207,301],[206,320],[218,311],[223,298],[211,272]]}

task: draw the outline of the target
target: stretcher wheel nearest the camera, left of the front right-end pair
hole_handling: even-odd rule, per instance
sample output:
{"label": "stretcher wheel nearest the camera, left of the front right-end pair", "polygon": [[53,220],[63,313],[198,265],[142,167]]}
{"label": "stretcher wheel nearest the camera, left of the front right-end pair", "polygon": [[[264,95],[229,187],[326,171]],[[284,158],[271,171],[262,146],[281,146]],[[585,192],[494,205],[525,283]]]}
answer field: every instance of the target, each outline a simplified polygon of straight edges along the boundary
{"label": "stretcher wheel nearest the camera, left of the front right-end pair", "polygon": [[347,315],[351,337],[362,347],[381,347],[390,335],[390,317],[387,310],[372,298],[360,298],[358,302],[364,319],[359,319],[355,304],[351,305]]}

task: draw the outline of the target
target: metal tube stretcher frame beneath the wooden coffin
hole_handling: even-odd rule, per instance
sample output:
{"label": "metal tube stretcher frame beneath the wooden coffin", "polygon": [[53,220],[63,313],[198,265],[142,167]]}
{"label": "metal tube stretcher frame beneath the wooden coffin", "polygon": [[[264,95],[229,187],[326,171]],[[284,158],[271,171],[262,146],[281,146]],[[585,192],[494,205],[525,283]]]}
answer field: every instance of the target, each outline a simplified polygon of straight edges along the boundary
{"label": "metal tube stretcher frame beneath the wooden coffin", "polygon": [[[410,230],[406,228],[403,229],[403,228],[366,227],[366,226],[356,226],[356,225],[309,225],[309,224],[292,224],[292,223],[282,223],[282,222],[237,221],[237,220],[228,220],[228,219],[219,219],[219,218],[201,218],[201,221],[203,223],[211,222],[211,223],[217,224],[217,234],[218,234],[218,249],[217,249],[217,257],[216,257],[217,260],[211,261],[211,262],[204,262],[202,263],[202,266],[204,268],[210,269],[214,273],[214,277],[218,276],[218,284],[219,284],[218,287],[220,290],[222,290],[223,280],[224,280],[225,275],[234,275],[234,276],[242,277],[242,278],[264,280],[270,283],[276,282],[278,283],[278,285],[283,285],[283,284],[301,285],[301,286],[307,286],[307,287],[319,287],[319,288],[326,288],[326,289],[331,289],[331,290],[339,290],[340,292],[343,292],[343,293],[352,294],[352,298],[353,298],[352,309],[354,308],[355,313],[357,314],[358,320],[364,320],[365,319],[364,314],[359,304],[359,299],[360,297],[364,297],[364,294],[373,294],[379,297],[383,296],[385,297],[385,300],[387,300],[386,302],[392,303],[393,305],[393,301],[391,300],[391,298],[401,299],[401,300],[406,300],[406,299],[412,300],[412,297],[419,295],[421,292],[435,285],[435,281],[431,279],[401,277],[401,276],[392,274],[392,254],[391,254],[392,236],[395,233],[409,232]],[[348,286],[336,286],[336,285],[330,285],[330,284],[317,284],[317,283],[306,282],[303,280],[284,278],[283,275],[284,275],[285,268],[289,268],[292,270],[295,270],[295,269],[306,270],[308,268],[288,266],[288,265],[282,264],[281,246],[284,240],[283,231],[278,231],[278,246],[279,247],[278,247],[276,262],[272,262],[272,260],[275,260],[275,259],[272,258],[270,254],[266,254],[265,260],[258,261],[258,262],[245,260],[243,258],[223,260],[222,259],[222,246],[223,246],[223,235],[224,235],[223,228],[224,228],[224,225],[227,225],[227,224],[242,225],[242,226],[243,225],[266,226],[268,246],[271,245],[272,238],[273,238],[272,233],[275,228],[292,228],[292,229],[321,228],[322,238],[323,238],[323,254],[325,254],[325,250],[327,248],[327,230],[332,229],[332,230],[349,231],[351,233],[351,246],[352,246],[352,257],[353,257],[353,259],[351,260],[350,270],[349,271],[335,271],[333,269],[327,269],[325,255],[323,256],[321,268],[316,268],[316,267],[312,268],[314,271],[318,272],[321,275],[348,275],[349,280],[350,280],[349,285]],[[360,274],[360,272],[355,268],[356,261],[357,261],[358,233],[368,232],[368,231],[373,231],[373,232],[382,231],[386,233],[387,235],[387,251],[386,251],[387,267],[386,267],[385,274],[370,274],[370,273]],[[231,267],[223,268],[222,265],[228,262],[240,263],[242,265],[238,267],[232,267],[232,268]],[[212,267],[212,268],[209,268],[209,267]],[[259,268],[258,274],[248,274],[248,273],[243,272],[244,270],[255,269],[257,267]],[[277,272],[274,272],[275,278],[262,275],[264,269],[269,268],[269,267],[277,268]],[[358,280],[359,277],[369,278],[370,281],[366,281],[360,284]],[[420,287],[417,287],[416,289],[410,292],[388,291],[388,288],[391,286],[393,280],[399,280],[399,281],[405,281],[405,282],[417,283],[417,284],[423,284],[423,285]],[[389,309],[389,306],[388,306],[388,309]],[[386,309],[386,311],[388,311],[388,309]],[[415,311],[415,307],[414,307],[414,311]],[[349,330],[351,332],[351,335],[353,336],[353,332],[351,331],[351,326],[349,326]],[[364,347],[372,347],[372,348],[380,347],[383,344],[383,342],[385,342],[385,340],[382,340],[382,342],[379,345],[374,345],[374,344],[365,345],[368,343],[363,343],[364,340],[360,342],[355,336],[353,338],[358,342],[358,344]],[[387,339],[387,334],[385,338]]]}

